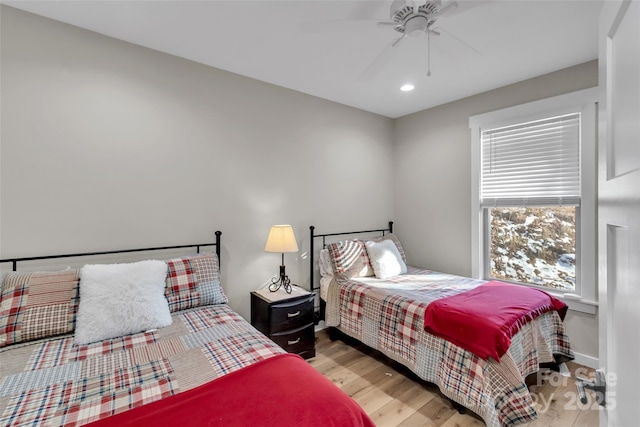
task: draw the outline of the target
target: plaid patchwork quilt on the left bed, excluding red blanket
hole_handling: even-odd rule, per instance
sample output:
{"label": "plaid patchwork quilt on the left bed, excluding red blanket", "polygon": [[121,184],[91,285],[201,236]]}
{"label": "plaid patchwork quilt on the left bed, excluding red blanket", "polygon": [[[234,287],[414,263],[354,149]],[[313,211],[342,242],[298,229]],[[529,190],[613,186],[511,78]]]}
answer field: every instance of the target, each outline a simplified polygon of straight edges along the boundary
{"label": "plaid patchwork quilt on the left bed, excluding red blanket", "polygon": [[0,350],[0,425],[86,424],[280,353],[226,305],[89,345],[74,345],[72,336],[16,344]]}

